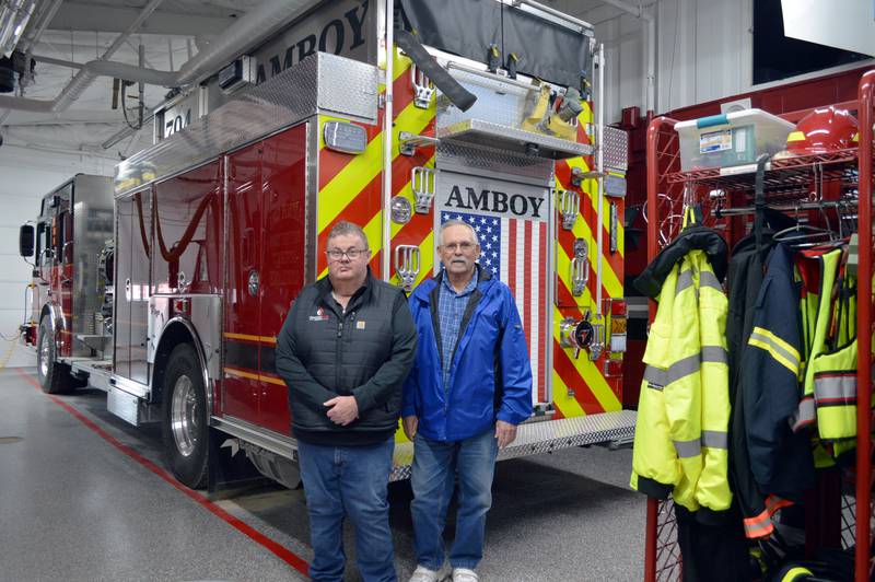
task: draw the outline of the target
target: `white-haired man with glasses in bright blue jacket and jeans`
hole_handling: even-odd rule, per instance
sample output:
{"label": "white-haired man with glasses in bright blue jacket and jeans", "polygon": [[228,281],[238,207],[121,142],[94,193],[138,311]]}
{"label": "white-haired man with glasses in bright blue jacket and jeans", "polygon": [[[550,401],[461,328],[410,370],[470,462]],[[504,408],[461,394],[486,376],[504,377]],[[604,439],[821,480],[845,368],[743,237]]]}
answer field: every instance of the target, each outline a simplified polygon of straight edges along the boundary
{"label": "white-haired man with glasses in bright blue jacket and jeans", "polygon": [[442,533],[458,474],[453,582],[476,582],[492,504],[498,450],[532,415],[532,368],[511,290],[477,265],[477,233],[445,222],[444,270],[410,296],[419,337],[404,386],[404,430],[413,441],[411,486],[418,567],[410,582],[434,582],[444,563]]}

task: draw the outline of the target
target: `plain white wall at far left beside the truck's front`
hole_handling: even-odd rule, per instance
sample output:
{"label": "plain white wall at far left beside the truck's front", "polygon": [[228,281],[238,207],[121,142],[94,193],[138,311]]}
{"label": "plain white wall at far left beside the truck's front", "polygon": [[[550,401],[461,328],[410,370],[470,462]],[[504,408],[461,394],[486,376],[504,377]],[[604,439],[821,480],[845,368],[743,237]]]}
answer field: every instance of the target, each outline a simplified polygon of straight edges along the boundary
{"label": "plain white wall at far left beside the truck's front", "polygon": [[0,148],[0,369],[36,365],[33,348],[7,341],[25,319],[24,293],[31,282],[31,266],[19,255],[19,228],[36,218],[46,193],[80,172],[112,176],[114,164],[105,158]]}

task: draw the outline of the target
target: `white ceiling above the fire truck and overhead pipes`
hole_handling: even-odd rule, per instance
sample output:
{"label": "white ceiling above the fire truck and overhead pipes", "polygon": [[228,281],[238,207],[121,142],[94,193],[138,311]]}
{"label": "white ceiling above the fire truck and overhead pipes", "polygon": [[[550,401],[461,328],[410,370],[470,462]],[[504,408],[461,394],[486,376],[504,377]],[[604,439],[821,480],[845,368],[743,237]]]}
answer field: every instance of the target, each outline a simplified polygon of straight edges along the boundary
{"label": "white ceiling above the fire truck and overhead pipes", "polygon": [[[52,0],[39,0],[43,3]],[[231,26],[236,19],[260,5],[265,0],[164,0],[140,27],[121,45],[110,60],[138,63],[138,45],[144,46],[145,67],[158,70],[178,70],[198,47]],[[435,0],[436,1],[436,0]],[[587,19],[616,18],[619,9],[600,0],[542,0],[564,12]],[[149,0],[63,0],[45,32],[33,46],[33,55],[84,63],[100,58],[137,19]],[[315,2],[314,2],[315,3]],[[607,9],[607,10],[606,10]],[[595,10],[595,11],[593,11]],[[33,19],[28,28],[34,25]],[[25,31],[25,35],[28,30]],[[51,101],[58,96],[77,70],[69,67],[37,62],[33,84],[20,88],[7,96]],[[113,80],[97,78],[69,108],[60,113],[30,113],[0,108],[0,133],[9,146],[40,151],[85,152],[102,156],[130,155],[151,144],[151,124],[126,137],[108,150],[102,144],[125,129],[121,109],[113,109]],[[154,107],[164,100],[167,90],[145,85],[145,104]],[[137,86],[128,89],[136,97]],[[136,98],[129,98],[135,107]],[[135,112],[131,112],[135,114]],[[136,115],[136,114],[135,114]],[[133,117],[130,119],[135,120]]]}

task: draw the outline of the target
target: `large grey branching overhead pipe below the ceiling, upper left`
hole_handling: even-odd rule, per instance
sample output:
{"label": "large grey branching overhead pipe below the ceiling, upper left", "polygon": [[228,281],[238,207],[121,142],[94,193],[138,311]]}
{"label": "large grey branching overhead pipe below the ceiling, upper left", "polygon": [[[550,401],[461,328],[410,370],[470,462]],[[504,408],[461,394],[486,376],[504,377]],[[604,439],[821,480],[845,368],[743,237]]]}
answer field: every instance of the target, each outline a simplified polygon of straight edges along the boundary
{"label": "large grey branching overhead pipe below the ceiling, upper left", "polygon": [[[26,100],[0,95],[0,108],[20,109],[27,112],[57,113],[66,109],[79,98],[81,94],[100,75],[115,77],[127,81],[143,82],[148,84],[168,88],[192,85],[215,70],[230,62],[241,53],[254,46],[259,40],[268,38],[278,32],[285,23],[295,16],[300,10],[308,4],[305,1],[291,2],[289,0],[270,0],[258,8],[247,12],[217,40],[210,43],[203,50],[189,59],[182,68],[174,71],[160,71],[147,69],[124,62],[106,60],[120,46],[130,34],[136,32],[142,22],[151,14],[162,0],[152,0],[143,9],[137,21],[116,38],[113,46],[104,54],[103,58],[84,63],[80,72],[61,91],[54,101]],[[148,12],[148,14],[147,14]]]}

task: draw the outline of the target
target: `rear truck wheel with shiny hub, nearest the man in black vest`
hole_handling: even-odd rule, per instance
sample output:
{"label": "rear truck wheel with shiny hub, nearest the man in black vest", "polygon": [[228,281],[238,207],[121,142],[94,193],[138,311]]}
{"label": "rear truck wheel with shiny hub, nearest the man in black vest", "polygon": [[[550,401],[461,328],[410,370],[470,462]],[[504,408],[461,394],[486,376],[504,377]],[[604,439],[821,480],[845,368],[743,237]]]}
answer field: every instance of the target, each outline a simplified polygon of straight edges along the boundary
{"label": "rear truck wheel with shiny hub, nearest the man in black vest", "polygon": [[173,475],[191,489],[207,485],[208,418],[200,359],[195,348],[180,344],[164,374],[164,455]]}

